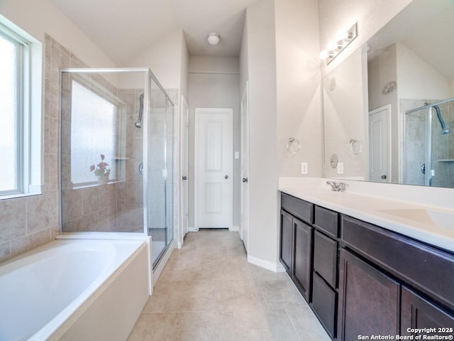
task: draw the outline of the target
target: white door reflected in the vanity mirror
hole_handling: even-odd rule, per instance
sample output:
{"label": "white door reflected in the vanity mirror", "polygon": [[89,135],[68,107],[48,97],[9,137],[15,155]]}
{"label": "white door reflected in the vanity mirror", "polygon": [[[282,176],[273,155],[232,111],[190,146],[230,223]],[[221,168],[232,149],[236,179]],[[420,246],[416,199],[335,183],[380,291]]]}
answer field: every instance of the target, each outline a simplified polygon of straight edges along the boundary
{"label": "white door reflected in the vanity mirror", "polygon": [[389,114],[391,104],[369,112],[369,180],[391,182]]}

